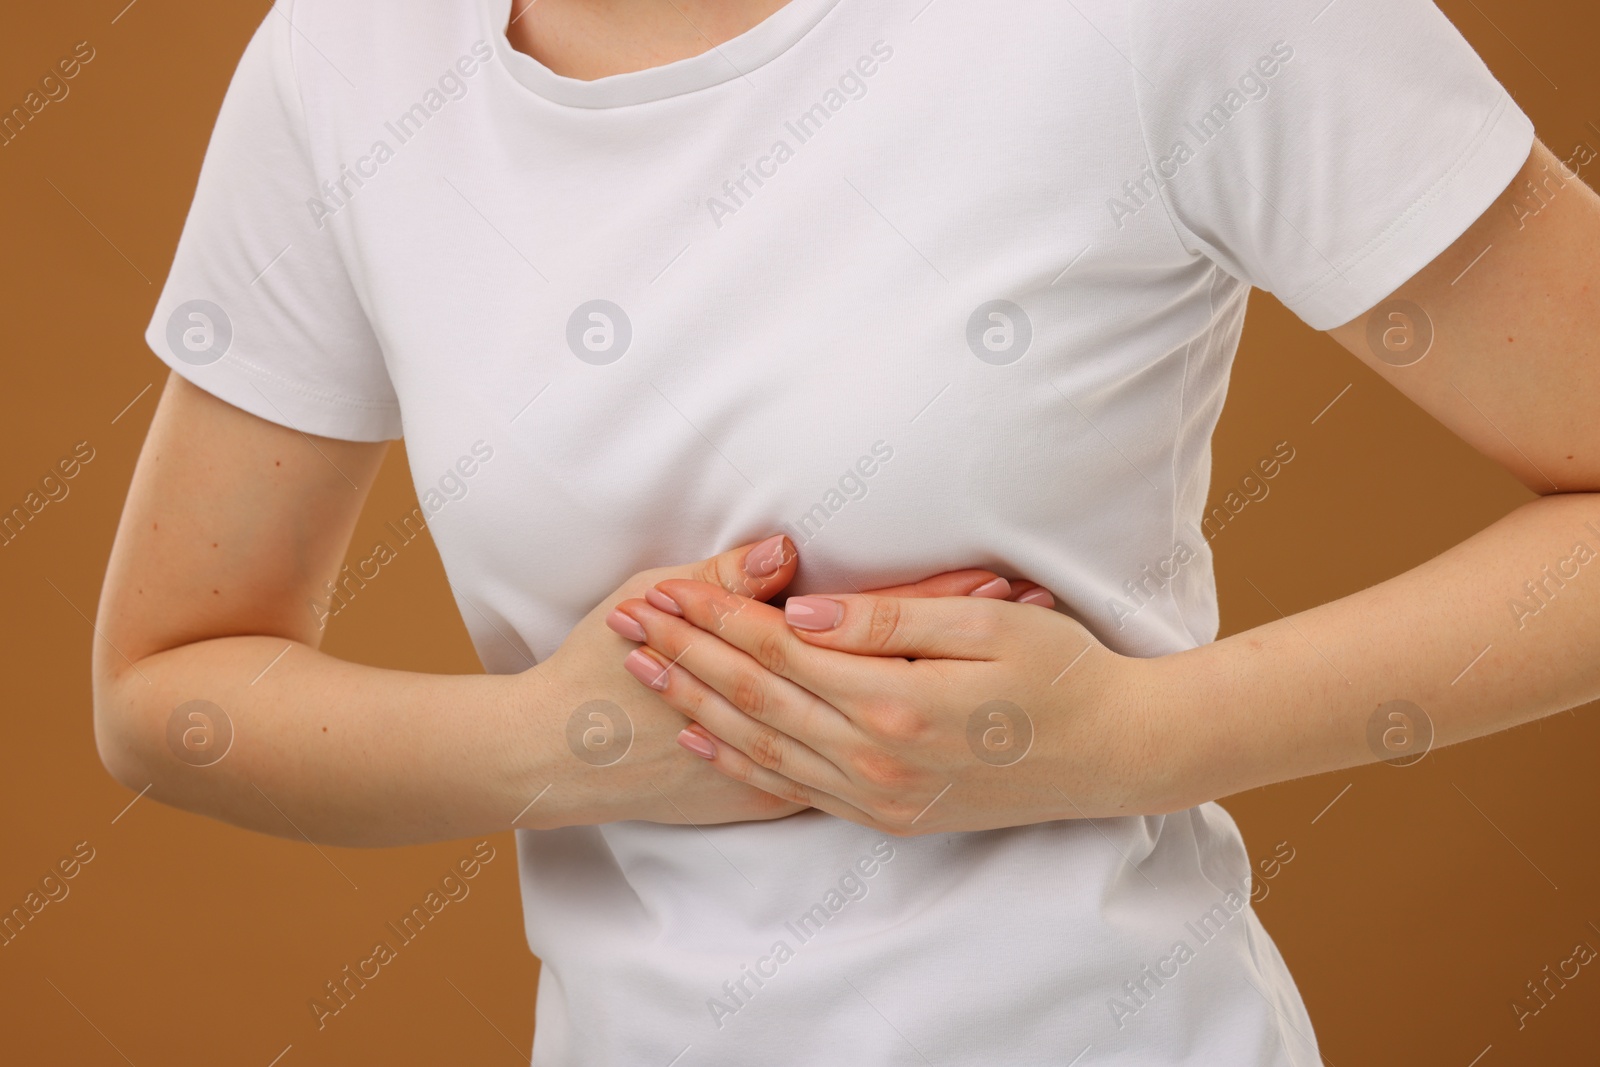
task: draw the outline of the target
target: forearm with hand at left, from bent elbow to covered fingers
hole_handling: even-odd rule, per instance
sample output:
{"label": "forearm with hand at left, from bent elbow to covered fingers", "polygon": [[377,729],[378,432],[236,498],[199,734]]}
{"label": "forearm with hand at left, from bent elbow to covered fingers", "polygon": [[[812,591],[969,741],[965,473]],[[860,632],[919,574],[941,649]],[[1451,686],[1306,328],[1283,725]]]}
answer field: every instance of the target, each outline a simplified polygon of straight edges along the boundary
{"label": "forearm with hand at left, from bent elbow to covered fingers", "polygon": [[[330,845],[779,819],[803,805],[733,782],[674,744],[683,717],[624,669],[627,643],[603,621],[624,597],[674,576],[771,595],[797,566],[792,547],[776,560],[773,547],[778,537],[642,571],[515,675],[384,670],[266,635],[189,641],[130,664],[104,640],[101,758],[155,800]],[[923,585],[970,592],[992,577],[960,571]]]}

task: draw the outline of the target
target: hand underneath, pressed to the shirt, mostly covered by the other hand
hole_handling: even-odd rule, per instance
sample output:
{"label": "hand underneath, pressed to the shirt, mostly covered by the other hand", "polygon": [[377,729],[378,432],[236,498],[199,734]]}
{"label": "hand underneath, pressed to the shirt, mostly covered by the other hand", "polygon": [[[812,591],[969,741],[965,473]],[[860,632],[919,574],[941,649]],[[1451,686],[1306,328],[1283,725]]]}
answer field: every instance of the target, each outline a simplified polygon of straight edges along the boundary
{"label": "hand underneath, pressed to the shirt, mostly covered by the other hand", "polygon": [[[557,752],[558,758],[530,768],[533,803],[515,825],[549,829],[624,819],[701,825],[781,819],[802,811],[800,805],[717,774],[685,752],[677,734],[688,720],[627,673],[622,661],[632,641],[606,624],[616,605],[646,595],[669,577],[770,600],[789,585],[797,566],[794,544],[782,536],[768,537],[699,563],[642,571],[584,616],[549,659],[522,675],[526,707],[541,709],[544,744],[538,747]],[[994,571],[965,569],[874,592],[1019,598],[1034,589],[1032,582],[997,579]]]}

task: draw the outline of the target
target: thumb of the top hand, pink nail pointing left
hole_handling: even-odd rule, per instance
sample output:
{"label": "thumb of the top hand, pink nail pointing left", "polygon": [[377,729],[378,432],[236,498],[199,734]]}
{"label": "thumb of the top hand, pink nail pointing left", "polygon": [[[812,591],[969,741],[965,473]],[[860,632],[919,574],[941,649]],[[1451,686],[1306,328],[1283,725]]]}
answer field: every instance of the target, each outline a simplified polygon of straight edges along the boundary
{"label": "thumb of the top hand, pink nail pointing left", "polygon": [[854,656],[995,659],[1016,606],[978,597],[790,597],[784,621],[806,645]]}

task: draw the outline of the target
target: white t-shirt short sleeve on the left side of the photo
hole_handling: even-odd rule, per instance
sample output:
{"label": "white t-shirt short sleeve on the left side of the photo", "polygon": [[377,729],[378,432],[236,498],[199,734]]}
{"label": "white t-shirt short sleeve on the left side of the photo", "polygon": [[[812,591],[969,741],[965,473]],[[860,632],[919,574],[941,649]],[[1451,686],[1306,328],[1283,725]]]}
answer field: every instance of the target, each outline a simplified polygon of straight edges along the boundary
{"label": "white t-shirt short sleeve on the left side of the photo", "polygon": [[274,8],[238,61],[144,339],[206,392],[306,434],[400,437],[382,349],[317,226],[293,27]]}

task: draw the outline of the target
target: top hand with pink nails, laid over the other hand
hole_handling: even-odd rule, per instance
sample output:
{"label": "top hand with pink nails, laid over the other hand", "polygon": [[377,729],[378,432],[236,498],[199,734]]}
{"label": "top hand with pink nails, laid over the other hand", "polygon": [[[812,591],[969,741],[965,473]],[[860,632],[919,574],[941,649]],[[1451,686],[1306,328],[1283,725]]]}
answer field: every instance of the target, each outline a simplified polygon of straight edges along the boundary
{"label": "top hand with pink nails, laid over the other hand", "polygon": [[645,633],[629,670],[694,720],[683,747],[885,833],[1197,801],[1176,781],[1182,745],[1152,661],[1035,603],[867,593],[779,609],[666,581],[618,609]]}

